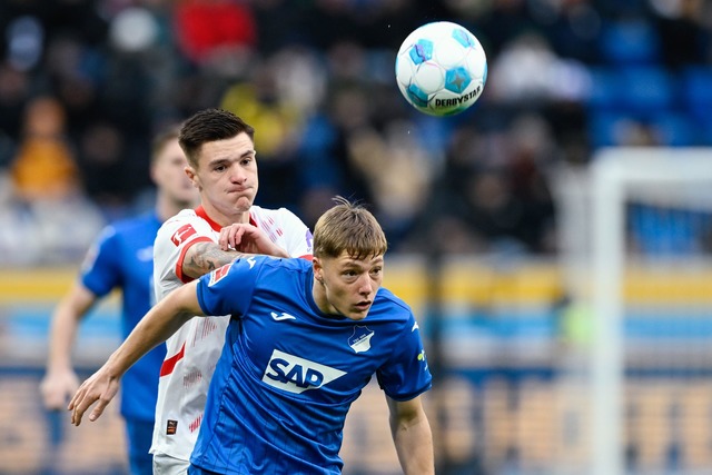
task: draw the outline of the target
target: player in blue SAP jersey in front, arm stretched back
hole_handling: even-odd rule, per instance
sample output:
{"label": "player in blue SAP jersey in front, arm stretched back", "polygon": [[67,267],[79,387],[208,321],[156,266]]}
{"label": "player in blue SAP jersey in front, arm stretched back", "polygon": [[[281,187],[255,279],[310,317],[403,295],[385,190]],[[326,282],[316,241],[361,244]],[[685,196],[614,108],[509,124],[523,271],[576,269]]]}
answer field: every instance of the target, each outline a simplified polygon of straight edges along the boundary
{"label": "player in blue SAP jersey in front, arm stretched back", "polygon": [[407,304],[382,288],[386,237],[337,198],[314,230],[314,259],[244,256],[158,303],[72,398],[96,420],[123,372],[195,315],[230,315],[189,474],[339,474],[348,409],[375,374],[405,474],[434,474],[421,395],[432,385]]}

